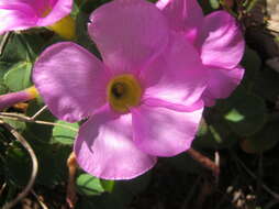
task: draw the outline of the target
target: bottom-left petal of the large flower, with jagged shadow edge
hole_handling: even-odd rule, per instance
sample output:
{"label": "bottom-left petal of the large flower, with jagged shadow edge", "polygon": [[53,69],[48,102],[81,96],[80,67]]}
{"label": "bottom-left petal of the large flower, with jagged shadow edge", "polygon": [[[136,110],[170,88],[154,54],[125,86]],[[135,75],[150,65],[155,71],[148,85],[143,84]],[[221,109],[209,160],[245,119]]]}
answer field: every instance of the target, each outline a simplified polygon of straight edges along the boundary
{"label": "bottom-left petal of the large flower, with jagged shadow edge", "polygon": [[108,106],[82,124],[75,143],[79,166],[104,179],[131,179],[150,169],[156,157],[133,142],[131,114],[114,116]]}

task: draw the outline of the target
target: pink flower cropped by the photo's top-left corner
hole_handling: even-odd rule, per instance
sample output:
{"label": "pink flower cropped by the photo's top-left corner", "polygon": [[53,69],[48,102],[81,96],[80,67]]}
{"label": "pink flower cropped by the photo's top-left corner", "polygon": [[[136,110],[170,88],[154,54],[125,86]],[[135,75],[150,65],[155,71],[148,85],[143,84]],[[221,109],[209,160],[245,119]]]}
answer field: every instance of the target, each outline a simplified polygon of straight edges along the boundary
{"label": "pink flower cropped by the photo's top-left corner", "polygon": [[70,13],[72,0],[0,0],[0,34],[47,26]]}

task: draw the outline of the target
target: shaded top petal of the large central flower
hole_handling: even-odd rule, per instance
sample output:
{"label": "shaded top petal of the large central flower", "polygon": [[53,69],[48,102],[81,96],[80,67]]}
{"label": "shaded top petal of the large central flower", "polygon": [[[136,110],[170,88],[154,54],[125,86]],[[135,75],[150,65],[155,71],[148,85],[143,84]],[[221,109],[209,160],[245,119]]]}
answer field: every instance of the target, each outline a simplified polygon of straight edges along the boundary
{"label": "shaded top petal of the large central flower", "polygon": [[144,0],[112,1],[94,10],[90,21],[90,36],[116,74],[143,68],[168,43],[165,16]]}

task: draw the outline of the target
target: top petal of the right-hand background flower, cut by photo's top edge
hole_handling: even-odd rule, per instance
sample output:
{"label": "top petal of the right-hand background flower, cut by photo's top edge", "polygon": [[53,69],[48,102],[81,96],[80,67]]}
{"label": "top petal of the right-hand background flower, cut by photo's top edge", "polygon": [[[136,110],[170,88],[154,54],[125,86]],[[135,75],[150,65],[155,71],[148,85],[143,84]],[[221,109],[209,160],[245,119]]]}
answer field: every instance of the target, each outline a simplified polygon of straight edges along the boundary
{"label": "top petal of the right-hand background flower, cut by photo's top edge", "polygon": [[186,32],[188,40],[194,41],[203,21],[197,0],[159,0],[156,6],[167,16],[174,30]]}

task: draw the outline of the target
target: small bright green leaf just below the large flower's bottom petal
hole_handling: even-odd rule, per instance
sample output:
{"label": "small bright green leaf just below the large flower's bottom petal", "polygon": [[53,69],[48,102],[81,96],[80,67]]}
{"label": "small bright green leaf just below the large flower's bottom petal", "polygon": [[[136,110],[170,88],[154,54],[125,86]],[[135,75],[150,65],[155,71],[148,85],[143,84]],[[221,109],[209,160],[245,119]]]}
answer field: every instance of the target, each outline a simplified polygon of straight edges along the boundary
{"label": "small bright green leaf just below the large flower's bottom petal", "polygon": [[79,175],[76,184],[78,191],[82,195],[101,195],[105,191],[101,180],[97,177],[90,176],[89,174]]}

